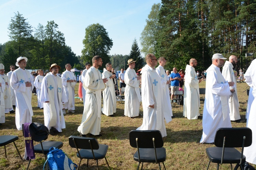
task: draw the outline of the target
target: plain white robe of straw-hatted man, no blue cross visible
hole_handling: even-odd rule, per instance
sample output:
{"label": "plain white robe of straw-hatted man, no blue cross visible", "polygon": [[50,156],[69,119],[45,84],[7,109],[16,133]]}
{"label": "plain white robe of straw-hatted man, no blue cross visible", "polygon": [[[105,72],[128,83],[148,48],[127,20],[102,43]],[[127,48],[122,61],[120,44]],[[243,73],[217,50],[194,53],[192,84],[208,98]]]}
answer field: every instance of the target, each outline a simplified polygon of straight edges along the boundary
{"label": "plain white robe of straw-hatted man, no blue cross visible", "polygon": [[134,69],[129,67],[125,71],[125,116],[136,117],[140,112],[140,88],[137,74]]}

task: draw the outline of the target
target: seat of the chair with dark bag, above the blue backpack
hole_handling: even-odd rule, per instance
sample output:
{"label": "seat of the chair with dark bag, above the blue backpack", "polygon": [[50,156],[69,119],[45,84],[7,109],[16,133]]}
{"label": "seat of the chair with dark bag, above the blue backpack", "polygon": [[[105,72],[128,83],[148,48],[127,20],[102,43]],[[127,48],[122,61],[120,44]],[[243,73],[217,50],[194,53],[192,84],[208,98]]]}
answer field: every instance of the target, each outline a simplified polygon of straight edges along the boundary
{"label": "seat of the chair with dark bag, above the blue backpack", "polygon": [[[42,142],[42,145],[44,148],[44,153],[46,154],[49,152],[51,147],[60,149],[63,146],[63,143],[58,141],[44,141]],[[43,153],[40,143],[34,146],[34,151],[35,153]]]}

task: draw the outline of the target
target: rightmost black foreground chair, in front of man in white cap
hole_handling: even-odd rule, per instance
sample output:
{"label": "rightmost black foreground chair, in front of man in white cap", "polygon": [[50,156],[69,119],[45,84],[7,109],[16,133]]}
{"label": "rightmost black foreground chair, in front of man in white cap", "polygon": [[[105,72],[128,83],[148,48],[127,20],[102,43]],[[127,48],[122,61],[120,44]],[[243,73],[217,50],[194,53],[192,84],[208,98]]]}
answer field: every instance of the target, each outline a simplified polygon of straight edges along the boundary
{"label": "rightmost black foreground chair, in front of man in white cap", "polygon": [[[211,162],[217,163],[217,170],[219,164],[237,164],[234,170],[245,162],[243,155],[244,147],[252,144],[252,130],[250,128],[219,128],[215,134],[214,145],[216,147],[206,148],[206,153],[209,158],[209,165]],[[235,148],[242,148],[239,152]]]}

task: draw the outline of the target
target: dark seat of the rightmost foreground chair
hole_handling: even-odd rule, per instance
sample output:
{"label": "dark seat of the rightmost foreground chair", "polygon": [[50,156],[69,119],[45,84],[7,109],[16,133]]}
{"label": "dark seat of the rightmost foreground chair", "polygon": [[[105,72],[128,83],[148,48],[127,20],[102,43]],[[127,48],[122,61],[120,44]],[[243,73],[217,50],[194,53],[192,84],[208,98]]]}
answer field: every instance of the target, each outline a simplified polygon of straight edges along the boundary
{"label": "dark seat of the rightmost foreground chair", "polygon": [[[221,163],[222,148],[212,147],[206,148],[207,156],[213,163]],[[225,148],[223,164],[239,164],[241,158],[241,152],[235,148]],[[242,163],[245,162],[245,156],[243,155]]]}

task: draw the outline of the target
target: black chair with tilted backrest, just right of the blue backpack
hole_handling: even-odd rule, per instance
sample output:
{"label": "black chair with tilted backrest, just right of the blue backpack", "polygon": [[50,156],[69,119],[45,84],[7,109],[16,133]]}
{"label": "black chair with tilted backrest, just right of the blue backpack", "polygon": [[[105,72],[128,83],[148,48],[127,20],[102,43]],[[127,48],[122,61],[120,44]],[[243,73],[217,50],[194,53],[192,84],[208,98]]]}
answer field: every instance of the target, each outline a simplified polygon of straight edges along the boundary
{"label": "black chair with tilted backrest, just right of the blue backpack", "polygon": [[[97,162],[97,169],[99,169],[98,160],[105,158],[106,153],[108,151],[108,145],[101,145],[98,143],[97,139],[89,138],[89,137],[80,137],[80,136],[70,136],[69,137],[69,145],[72,148],[76,148],[77,154],[76,156],[80,158],[80,162],[77,170],[79,170],[81,160],[87,159],[87,167],[89,159],[94,159]],[[80,150],[79,150],[80,149]],[[109,163],[106,160],[106,163]]]}

